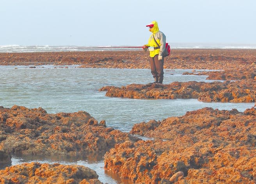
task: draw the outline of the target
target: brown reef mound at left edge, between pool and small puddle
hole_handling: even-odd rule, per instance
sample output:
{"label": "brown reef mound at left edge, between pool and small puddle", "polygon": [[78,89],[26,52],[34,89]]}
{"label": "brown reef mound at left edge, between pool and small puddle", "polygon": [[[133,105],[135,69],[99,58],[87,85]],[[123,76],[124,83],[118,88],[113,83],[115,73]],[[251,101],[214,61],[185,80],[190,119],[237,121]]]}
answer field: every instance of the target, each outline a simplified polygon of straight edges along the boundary
{"label": "brown reef mound at left edge, between pool and small puddle", "polygon": [[76,156],[106,152],[116,143],[139,138],[99,124],[85,111],[48,114],[43,108],[0,107],[0,154]]}

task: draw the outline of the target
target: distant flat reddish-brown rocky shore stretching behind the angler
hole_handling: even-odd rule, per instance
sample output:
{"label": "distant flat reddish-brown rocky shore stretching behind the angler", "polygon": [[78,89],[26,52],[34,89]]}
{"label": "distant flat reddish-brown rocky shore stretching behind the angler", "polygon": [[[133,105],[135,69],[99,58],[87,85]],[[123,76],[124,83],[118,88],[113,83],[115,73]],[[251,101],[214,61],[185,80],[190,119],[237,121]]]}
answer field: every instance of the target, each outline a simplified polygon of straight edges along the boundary
{"label": "distant flat reddish-brown rocky shore stretching behind the angler", "polygon": [[[164,60],[168,69],[238,70],[255,66],[256,50],[182,49],[171,50]],[[0,53],[0,65],[71,65],[96,68],[150,68],[149,52],[74,51],[38,53]]]}

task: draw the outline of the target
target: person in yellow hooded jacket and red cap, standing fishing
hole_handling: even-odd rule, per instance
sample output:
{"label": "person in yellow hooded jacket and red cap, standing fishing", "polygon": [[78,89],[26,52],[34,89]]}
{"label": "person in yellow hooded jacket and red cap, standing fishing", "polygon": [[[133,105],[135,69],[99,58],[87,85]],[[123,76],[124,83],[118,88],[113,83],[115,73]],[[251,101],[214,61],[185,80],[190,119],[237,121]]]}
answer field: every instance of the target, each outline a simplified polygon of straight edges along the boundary
{"label": "person in yellow hooded jacket and red cap, standing fishing", "polygon": [[152,32],[152,34],[149,37],[148,44],[145,44],[143,49],[145,50],[148,48],[150,52],[150,68],[153,78],[155,78],[155,82],[153,83],[162,84],[164,79],[163,52],[165,50],[166,37],[164,33],[159,31],[156,21],[151,22],[149,25],[146,25],[146,27],[149,27],[149,31]]}

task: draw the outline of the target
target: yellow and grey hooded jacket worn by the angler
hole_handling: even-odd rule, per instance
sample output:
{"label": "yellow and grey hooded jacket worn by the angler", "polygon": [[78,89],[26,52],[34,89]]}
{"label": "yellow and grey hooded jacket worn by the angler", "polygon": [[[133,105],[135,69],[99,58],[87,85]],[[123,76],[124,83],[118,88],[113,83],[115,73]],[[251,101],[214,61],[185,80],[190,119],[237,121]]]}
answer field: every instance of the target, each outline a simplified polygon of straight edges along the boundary
{"label": "yellow and grey hooded jacket worn by the angler", "polygon": [[[166,37],[164,33],[159,31],[158,24],[156,21],[151,22],[153,24],[153,28],[150,28],[149,31],[152,32],[153,34],[150,35],[148,39],[148,44],[146,46],[148,47],[158,47],[156,42],[160,45],[160,49],[155,49],[154,51],[150,51],[150,57],[155,57],[155,55],[159,54],[160,56],[163,56],[163,52],[165,50],[165,43],[166,43]],[[153,35],[156,39],[156,42],[153,38]]]}

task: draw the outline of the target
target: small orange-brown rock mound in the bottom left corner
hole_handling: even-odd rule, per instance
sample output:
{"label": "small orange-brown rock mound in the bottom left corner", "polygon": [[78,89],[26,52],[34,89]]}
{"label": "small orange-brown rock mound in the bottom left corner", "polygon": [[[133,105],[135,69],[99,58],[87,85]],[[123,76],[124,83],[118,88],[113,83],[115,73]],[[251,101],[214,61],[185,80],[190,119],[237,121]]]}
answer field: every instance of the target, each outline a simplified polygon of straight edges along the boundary
{"label": "small orange-brown rock mound in the bottom left corner", "polygon": [[85,166],[24,163],[0,170],[1,183],[103,184],[94,170]]}

